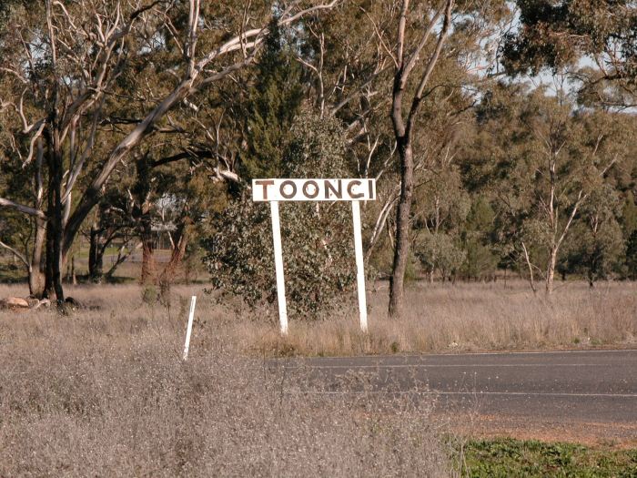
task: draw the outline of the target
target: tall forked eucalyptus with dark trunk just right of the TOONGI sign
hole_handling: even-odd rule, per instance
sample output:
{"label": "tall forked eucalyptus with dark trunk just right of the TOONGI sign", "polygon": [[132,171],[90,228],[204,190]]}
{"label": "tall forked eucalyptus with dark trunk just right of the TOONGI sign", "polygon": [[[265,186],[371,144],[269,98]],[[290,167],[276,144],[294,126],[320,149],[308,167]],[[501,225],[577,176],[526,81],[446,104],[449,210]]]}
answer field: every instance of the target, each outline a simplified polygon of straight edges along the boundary
{"label": "tall forked eucalyptus with dark trunk just right of the TOONGI sign", "polygon": [[[426,99],[440,87],[466,86],[432,83],[441,60],[455,62],[470,75],[485,65],[482,43],[488,42],[496,25],[508,14],[503,2],[458,3],[453,0],[419,2],[403,0],[393,41],[385,42],[394,65],[390,117],[399,155],[400,193],[396,211],[396,247],[389,290],[389,315],[403,308],[403,282],[410,249],[410,209],[414,189],[414,141],[426,118],[420,118]],[[487,50],[487,55],[489,52]],[[487,61],[488,63],[488,61]],[[436,107],[434,106],[434,111]]]}

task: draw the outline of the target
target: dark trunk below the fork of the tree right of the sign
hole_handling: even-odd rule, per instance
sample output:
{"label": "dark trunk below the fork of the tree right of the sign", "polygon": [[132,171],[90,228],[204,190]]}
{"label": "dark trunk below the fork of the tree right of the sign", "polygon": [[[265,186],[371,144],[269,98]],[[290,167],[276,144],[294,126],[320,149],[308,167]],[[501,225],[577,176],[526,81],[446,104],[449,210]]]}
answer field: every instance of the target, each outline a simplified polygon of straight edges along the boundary
{"label": "dark trunk below the fork of the tree right of the sign", "polygon": [[410,141],[399,145],[400,198],[396,212],[396,249],[389,280],[389,317],[399,317],[403,309],[405,271],[410,254],[410,211],[413,195],[413,154]]}

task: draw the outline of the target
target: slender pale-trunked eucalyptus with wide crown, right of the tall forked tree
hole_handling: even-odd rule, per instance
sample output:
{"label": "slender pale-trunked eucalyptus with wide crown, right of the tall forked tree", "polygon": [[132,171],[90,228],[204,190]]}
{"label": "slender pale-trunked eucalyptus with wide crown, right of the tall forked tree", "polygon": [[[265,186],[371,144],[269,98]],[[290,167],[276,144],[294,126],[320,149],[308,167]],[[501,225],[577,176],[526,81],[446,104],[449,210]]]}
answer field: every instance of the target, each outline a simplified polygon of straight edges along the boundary
{"label": "slender pale-trunked eucalyptus with wide crown, right of the tall forked tree", "polygon": [[548,294],[581,208],[632,149],[616,115],[575,111],[558,93],[492,88],[477,110],[479,133],[466,165],[496,198],[501,240],[528,269],[531,288],[539,273]]}

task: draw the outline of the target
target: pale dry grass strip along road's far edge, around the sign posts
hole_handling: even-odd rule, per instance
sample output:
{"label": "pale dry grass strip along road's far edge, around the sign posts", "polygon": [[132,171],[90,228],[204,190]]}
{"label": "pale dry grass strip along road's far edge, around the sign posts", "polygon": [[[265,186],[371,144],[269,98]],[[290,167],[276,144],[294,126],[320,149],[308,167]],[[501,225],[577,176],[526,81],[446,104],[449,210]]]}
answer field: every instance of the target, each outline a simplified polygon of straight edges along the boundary
{"label": "pale dry grass strip along road's far edge, around the sign posts", "polygon": [[[523,282],[418,285],[407,290],[408,308],[388,320],[387,290],[370,295],[369,334],[358,311],[331,320],[291,321],[286,339],[263,320],[231,324],[247,346],[301,355],[546,350],[637,346],[637,284],[567,283],[547,298]],[[239,339],[240,338],[240,339]]]}

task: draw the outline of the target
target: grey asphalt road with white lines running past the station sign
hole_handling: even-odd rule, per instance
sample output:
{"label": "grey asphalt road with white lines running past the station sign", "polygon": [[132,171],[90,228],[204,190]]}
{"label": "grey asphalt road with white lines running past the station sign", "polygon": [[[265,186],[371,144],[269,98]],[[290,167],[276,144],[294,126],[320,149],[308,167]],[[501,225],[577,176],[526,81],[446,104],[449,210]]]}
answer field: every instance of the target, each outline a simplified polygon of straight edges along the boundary
{"label": "grey asphalt road with white lines running past the station sign", "polygon": [[[637,351],[555,351],[277,361],[304,370],[320,388],[357,393],[344,377],[369,372],[373,392],[410,393],[415,384],[439,410],[530,422],[637,425]],[[359,391],[358,391],[359,392]],[[523,420],[522,420],[523,422]],[[637,430],[637,428],[635,428]]]}

